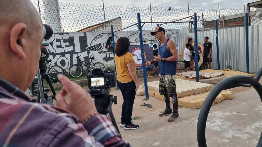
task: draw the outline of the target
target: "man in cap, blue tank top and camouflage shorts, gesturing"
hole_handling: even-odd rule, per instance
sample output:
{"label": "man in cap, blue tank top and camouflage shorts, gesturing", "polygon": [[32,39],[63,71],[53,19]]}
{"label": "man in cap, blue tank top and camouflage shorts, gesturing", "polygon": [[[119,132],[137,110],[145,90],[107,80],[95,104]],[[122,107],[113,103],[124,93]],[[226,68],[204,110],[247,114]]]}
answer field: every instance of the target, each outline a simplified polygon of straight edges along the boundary
{"label": "man in cap, blue tank top and camouflage shorts, gesturing", "polygon": [[[166,109],[159,116],[172,115],[168,118],[168,121],[176,121],[179,118],[177,94],[175,86],[175,74],[176,74],[176,61],[178,60],[178,53],[175,47],[175,42],[166,38],[165,29],[162,27],[156,27],[154,32],[150,33],[158,39],[158,56],[154,56],[154,60],[145,60],[145,65],[150,65],[154,62],[158,62],[158,74],[159,74],[159,93],[164,95]],[[170,108],[170,97],[172,97],[172,103],[174,112]]]}

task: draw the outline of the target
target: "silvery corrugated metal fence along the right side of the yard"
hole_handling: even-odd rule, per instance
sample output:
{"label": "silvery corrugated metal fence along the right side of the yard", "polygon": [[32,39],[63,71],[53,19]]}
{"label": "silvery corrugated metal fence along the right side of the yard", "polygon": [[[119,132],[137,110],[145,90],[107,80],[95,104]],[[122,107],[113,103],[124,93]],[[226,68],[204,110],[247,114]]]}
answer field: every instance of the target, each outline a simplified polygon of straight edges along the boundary
{"label": "silvery corrugated metal fence along the right side of the yard", "polygon": [[[179,47],[182,48],[186,36],[194,38],[194,33],[188,33],[186,29],[178,30]],[[209,30],[197,33],[197,40],[204,43],[204,37],[208,36],[212,43],[212,68],[218,68],[216,33]],[[257,72],[262,67],[262,25],[249,26],[249,68],[250,72]],[[218,30],[220,69],[246,71],[246,42],[245,27],[236,27]]]}

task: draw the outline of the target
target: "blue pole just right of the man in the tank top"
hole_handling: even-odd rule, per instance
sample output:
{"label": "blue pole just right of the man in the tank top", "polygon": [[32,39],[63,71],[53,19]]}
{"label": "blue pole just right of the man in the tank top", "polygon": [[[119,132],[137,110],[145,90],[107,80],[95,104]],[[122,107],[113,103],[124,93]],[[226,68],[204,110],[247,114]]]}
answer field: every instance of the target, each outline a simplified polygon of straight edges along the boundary
{"label": "blue pole just right of the man in the tank top", "polygon": [[195,25],[195,53],[196,53],[196,81],[199,82],[199,69],[198,69],[198,45],[197,45],[197,21],[196,13],[194,13]]}

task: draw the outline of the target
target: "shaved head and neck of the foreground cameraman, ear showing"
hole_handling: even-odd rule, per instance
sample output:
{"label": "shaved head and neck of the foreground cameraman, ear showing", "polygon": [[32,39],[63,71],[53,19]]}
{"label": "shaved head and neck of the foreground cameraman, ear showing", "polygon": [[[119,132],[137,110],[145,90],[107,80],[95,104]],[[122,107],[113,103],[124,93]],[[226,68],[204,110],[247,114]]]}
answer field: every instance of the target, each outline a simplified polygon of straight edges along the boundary
{"label": "shaved head and neck of the foreground cameraman, ear showing", "polygon": [[37,73],[42,40],[41,17],[30,0],[0,0],[0,78],[26,91]]}

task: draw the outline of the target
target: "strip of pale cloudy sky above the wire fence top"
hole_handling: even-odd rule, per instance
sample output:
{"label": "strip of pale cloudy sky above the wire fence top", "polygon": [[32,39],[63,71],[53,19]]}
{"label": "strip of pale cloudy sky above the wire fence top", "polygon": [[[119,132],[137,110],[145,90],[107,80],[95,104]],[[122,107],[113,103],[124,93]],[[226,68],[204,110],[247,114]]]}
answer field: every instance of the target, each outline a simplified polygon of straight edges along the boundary
{"label": "strip of pale cloudy sky above the wire fence top", "polygon": [[[37,0],[31,0],[32,2]],[[42,0],[39,0],[40,2]],[[48,0],[52,1],[52,0]],[[168,9],[183,7],[198,9],[218,9],[220,8],[244,8],[244,5],[250,2],[256,2],[257,0],[104,0],[104,5],[123,5],[127,6],[149,6],[151,1],[151,7],[162,7]],[[90,4],[90,5],[102,5],[102,0],[58,0],[59,3],[79,3],[79,4]]]}

